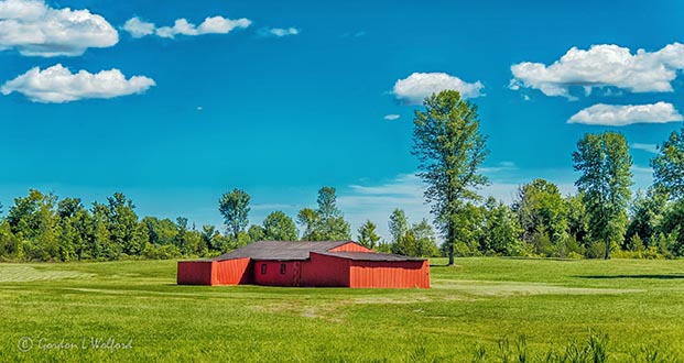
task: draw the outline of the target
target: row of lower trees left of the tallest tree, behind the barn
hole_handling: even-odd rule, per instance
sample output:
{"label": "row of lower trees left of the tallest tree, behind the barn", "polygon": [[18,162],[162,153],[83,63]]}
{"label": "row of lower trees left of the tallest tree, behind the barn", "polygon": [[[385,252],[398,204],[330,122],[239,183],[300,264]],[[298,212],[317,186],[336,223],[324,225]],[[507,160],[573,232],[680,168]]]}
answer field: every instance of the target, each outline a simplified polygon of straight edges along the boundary
{"label": "row of lower trees left of the tallest tree, behind the barn", "polygon": [[[135,205],[121,193],[104,204],[86,208],[79,198],[59,199],[54,194],[31,189],[14,199],[0,217],[0,261],[115,261],[122,258],[177,258],[215,256],[262,240],[339,241],[351,240],[350,224],[336,205],[336,190],[318,190],[316,209],[304,208],[295,221],[283,211],[273,211],[261,224],[249,224],[249,195],[234,189],[222,195],[218,210],[225,232],[215,226],[188,226],[178,217],[139,218]],[[2,213],[0,205],[0,216]],[[394,216],[397,215],[397,216]],[[380,241],[376,224],[367,221],[359,228],[358,240],[368,248],[408,255],[438,254],[432,226],[423,220],[410,226],[404,212],[392,215],[391,242]]]}

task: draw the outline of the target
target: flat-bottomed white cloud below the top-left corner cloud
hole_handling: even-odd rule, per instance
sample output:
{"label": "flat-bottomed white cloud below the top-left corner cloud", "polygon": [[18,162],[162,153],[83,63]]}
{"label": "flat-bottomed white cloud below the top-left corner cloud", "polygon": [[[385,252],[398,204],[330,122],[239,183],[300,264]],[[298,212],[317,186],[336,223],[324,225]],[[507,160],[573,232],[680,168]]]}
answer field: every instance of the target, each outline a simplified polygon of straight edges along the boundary
{"label": "flat-bottomed white cloud below the top-left corner cloud", "polygon": [[2,95],[20,92],[34,102],[63,103],[86,98],[113,98],[142,94],[154,86],[154,80],[144,76],[126,79],[119,69],[90,74],[79,70],[72,74],[61,64],[41,70],[32,68],[23,75],[7,81]]}

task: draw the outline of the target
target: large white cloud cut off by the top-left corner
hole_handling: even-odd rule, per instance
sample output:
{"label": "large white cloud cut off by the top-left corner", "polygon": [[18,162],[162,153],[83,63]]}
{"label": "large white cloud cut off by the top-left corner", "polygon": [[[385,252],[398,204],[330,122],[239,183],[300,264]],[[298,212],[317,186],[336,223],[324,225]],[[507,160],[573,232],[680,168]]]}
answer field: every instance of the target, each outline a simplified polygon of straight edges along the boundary
{"label": "large white cloud cut off by the top-left corner", "polygon": [[43,0],[0,0],[0,51],[26,56],[78,56],[89,47],[109,47],[119,34],[88,10],[53,9]]}

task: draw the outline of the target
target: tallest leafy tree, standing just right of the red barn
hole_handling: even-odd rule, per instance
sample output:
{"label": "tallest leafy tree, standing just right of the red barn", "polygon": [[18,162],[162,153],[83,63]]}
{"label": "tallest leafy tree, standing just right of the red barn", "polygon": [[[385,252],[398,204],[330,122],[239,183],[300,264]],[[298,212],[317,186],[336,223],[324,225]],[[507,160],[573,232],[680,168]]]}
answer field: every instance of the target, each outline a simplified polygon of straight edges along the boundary
{"label": "tallest leafy tree, standing just right of the red barn", "polygon": [[459,92],[433,94],[423,106],[425,110],[416,110],[413,119],[413,154],[453,265],[454,243],[463,239],[458,213],[469,201],[480,200],[477,188],[487,184],[478,173],[488,153],[487,139],[479,130],[477,107],[462,99]]}

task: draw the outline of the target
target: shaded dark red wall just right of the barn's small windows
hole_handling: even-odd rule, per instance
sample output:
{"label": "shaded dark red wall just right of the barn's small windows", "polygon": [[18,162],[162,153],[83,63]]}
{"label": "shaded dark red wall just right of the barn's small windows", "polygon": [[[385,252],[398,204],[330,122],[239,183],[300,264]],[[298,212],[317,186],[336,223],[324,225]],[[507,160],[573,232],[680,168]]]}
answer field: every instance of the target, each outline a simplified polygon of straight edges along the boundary
{"label": "shaded dark red wall just right of the barn's small windows", "polygon": [[349,260],[310,253],[310,261],[302,262],[300,286],[348,287]]}

